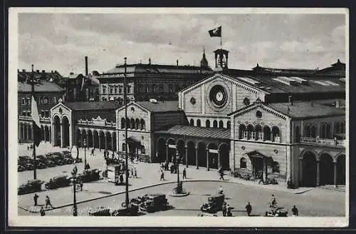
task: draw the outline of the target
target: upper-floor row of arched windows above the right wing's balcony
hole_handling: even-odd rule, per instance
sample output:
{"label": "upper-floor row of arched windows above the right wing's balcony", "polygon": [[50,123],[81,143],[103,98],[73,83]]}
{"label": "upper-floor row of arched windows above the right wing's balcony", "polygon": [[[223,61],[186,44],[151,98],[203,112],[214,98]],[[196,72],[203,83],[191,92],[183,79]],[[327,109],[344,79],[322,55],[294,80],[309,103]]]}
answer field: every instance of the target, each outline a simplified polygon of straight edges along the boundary
{"label": "upper-floor row of arched windows above the right wing's balcony", "polygon": [[[345,121],[336,122],[333,124],[334,131],[332,134],[332,123],[321,123],[320,129],[318,131],[318,126],[316,124],[308,124],[305,126],[304,136],[310,138],[323,138],[323,139],[331,139],[334,138],[335,134],[345,134]],[[298,138],[300,136],[300,127],[295,127],[295,137]]]}

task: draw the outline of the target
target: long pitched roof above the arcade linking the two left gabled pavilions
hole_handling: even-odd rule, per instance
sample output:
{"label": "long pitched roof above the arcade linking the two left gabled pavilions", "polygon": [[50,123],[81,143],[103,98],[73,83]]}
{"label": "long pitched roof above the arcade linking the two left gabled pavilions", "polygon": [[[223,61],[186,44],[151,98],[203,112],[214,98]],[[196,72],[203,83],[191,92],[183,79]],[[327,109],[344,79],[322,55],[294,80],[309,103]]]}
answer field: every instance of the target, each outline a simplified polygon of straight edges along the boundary
{"label": "long pitched roof above the arcade linking the two left gabled pavilions", "polygon": [[115,110],[120,107],[115,101],[75,101],[63,103],[73,111],[90,111],[90,110]]}

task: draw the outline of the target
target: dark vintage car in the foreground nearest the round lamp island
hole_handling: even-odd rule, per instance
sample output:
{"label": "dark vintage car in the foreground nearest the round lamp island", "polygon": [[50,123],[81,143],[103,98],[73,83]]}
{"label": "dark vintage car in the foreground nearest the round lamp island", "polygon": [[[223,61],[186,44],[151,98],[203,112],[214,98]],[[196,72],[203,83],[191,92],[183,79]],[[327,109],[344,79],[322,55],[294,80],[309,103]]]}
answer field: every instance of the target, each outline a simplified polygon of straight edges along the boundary
{"label": "dark vintage car in the foreground nearest the round lamp island", "polygon": [[159,210],[167,209],[167,198],[163,193],[148,194],[144,196],[144,201],[140,203],[140,210],[147,213],[153,213]]}

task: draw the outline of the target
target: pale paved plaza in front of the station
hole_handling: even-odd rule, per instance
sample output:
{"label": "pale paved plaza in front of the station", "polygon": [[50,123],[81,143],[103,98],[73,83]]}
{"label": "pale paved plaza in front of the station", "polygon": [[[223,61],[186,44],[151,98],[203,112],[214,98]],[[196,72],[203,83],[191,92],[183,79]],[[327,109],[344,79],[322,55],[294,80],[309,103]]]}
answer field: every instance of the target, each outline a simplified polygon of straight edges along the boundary
{"label": "pale paved plaza in front of the station", "polygon": [[[66,149],[41,143],[37,154],[64,151]],[[27,145],[19,146],[19,156],[31,155]],[[83,158],[83,149],[80,149],[80,158]],[[87,150],[87,160],[91,168],[104,170],[103,151],[95,150],[95,156],[90,156]],[[83,170],[83,163],[78,163],[78,171]],[[159,165],[157,163],[135,163],[138,178],[130,178],[130,198],[147,193],[168,194],[176,185],[177,174],[165,172],[166,180],[159,180]],[[184,166],[180,167],[182,171]],[[38,179],[48,181],[56,175],[70,174],[73,165],[56,166],[55,168],[41,169],[37,171]],[[19,174],[19,184],[33,178],[33,171],[24,171]],[[182,173],[181,173],[182,178]],[[216,193],[219,185],[222,185],[227,200],[234,207],[234,215],[246,215],[244,207],[249,201],[253,206],[254,215],[263,215],[266,211],[268,199],[271,194],[276,195],[278,204],[288,209],[291,205],[297,205],[300,215],[304,216],[343,216],[345,215],[345,193],[322,188],[298,188],[290,190],[286,185],[258,185],[255,181],[246,181],[239,178],[226,176],[226,183],[219,181],[217,171],[206,171],[206,168],[196,169],[194,166],[187,168],[187,180],[184,180],[184,188],[191,191],[191,195],[184,198],[168,197],[169,210],[152,213],[150,215],[197,215],[200,213],[200,205],[207,201],[209,195]],[[39,193],[38,203],[43,204],[46,195],[51,198],[54,210],[46,215],[72,215],[73,189],[72,187],[58,188],[56,190],[44,190]],[[38,215],[30,213],[33,205],[33,193],[18,196],[19,215]],[[114,185],[107,180],[85,183],[83,191],[77,193],[78,215],[88,215],[88,208],[97,205],[117,208],[125,201],[125,186]],[[221,215],[221,214],[219,214]]]}

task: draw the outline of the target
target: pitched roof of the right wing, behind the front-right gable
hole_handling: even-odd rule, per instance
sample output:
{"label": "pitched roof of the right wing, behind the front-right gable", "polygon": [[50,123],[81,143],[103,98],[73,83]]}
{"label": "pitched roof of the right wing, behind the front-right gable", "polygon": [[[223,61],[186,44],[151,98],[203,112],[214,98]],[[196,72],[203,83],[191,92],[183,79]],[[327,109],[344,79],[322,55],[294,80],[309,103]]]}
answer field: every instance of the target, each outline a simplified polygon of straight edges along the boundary
{"label": "pitched roof of the right wing, behind the front-right gable", "polygon": [[320,118],[326,116],[345,116],[345,110],[325,106],[312,101],[290,103],[269,103],[266,106],[290,116],[291,118]]}

